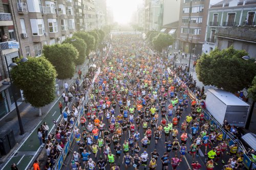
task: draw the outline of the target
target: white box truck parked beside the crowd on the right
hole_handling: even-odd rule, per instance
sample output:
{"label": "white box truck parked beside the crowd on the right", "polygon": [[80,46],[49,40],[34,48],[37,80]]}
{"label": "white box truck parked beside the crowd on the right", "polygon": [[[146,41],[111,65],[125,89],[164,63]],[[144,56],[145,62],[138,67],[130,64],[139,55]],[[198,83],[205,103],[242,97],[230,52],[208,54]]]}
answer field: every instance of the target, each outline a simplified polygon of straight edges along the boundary
{"label": "white box truck parked beside the crowd on the right", "polygon": [[236,95],[220,89],[208,89],[206,109],[222,125],[224,120],[232,126],[245,127],[250,105]]}

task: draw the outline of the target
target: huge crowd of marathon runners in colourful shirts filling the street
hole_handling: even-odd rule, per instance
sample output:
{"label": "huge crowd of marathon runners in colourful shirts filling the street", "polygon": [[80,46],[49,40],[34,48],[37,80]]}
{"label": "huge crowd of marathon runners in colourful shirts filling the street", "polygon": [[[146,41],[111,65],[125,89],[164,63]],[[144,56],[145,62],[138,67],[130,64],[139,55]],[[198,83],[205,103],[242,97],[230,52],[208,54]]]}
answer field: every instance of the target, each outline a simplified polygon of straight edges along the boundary
{"label": "huge crowd of marathon runners in colourful shirts filling the street", "polygon": [[[194,82],[186,69],[151,54],[136,36],[114,37],[109,57],[96,65],[101,72],[84,106],[81,127],[75,128],[77,150],[68,164],[72,170],[179,169],[183,162],[195,170],[220,169],[215,168],[219,163],[225,170],[242,169],[237,143],[228,146],[216,125],[205,122],[202,103],[190,101],[188,87]],[[87,87],[92,74],[84,79]],[[72,117],[66,117],[67,124]],[[199,151],[205,163],[198,161]]]}

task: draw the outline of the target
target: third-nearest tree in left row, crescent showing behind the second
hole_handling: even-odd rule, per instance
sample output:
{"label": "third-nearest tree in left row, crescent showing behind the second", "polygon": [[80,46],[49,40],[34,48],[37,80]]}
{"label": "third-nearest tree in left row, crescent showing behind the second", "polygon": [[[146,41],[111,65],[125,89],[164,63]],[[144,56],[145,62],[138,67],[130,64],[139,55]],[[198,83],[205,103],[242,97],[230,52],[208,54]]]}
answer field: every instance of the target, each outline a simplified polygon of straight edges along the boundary
{"label": "third-nearest tree in left row, crescent showing behind the second", "polygon": [[87,44],[83,41],[83,39],[73,36],[72,38],[67,38],[62,43],[70,43],[78,51],[79,55],[75,60],[75,65],[81,65],[84,63],[84,61],[86,60]]}

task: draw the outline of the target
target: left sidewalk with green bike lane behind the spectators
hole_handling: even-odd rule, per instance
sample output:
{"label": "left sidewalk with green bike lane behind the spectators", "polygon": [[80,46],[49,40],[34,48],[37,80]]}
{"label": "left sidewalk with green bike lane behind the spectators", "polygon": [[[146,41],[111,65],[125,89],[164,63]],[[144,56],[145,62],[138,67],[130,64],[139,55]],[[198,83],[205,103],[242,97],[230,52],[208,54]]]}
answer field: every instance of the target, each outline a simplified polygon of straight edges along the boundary
{"label": "left sidewalk with green bike lane behind the spectators", "polygon": [[[77,70],[82,70],[82,75],[84,75],[88,70],[88,59],[84,64],[77,66]],[[69,85],[75,82],[78,77],[77,72],[72,79],[64,80]],[[60,119],[58,101],[62,101],[61,93],[64,90],[62,88],[62,80],[57,80],[56,84],[59,84],[60,95],[51,104],[42,107],[42,116],[38,116],[38,109],[30,106],[23,102],[19,105],[20,117],[22,118],[25,134],[19,135],[19,126],[17,120],[16,110],[10,112],[5,118],[0,120],[1,132],[12,129],[16,145],[9,152],[8,155],[1,157],[0,169],[10,169],[12,163],[17,164],[19,169],[28,169],[28,165],[33,161],[33,158],[38,154],[38,151],[43,147],[39,146],[39,140],[37,138],[37,128],[44,122],[47,122],[49,126],[49,132],[54,128],[53,119]],[[4,163],[3,163],[4,162]]]}

